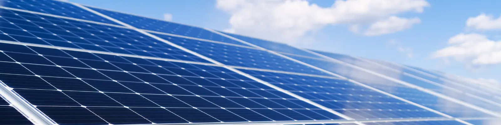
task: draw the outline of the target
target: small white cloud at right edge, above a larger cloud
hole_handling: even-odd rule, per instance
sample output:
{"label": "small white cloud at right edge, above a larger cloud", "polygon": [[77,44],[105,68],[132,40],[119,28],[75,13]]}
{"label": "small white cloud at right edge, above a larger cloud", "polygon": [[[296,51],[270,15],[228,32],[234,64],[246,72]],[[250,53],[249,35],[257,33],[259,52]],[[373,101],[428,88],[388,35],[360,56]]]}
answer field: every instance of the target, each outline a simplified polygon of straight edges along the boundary
{"label": "small white cloud at right edge, above a larger cloud", "polygon": [[466,26],[477,30],[501,29],[501,16],[493,18],[492,15],[481,13],[476,17],[469,17]]}

